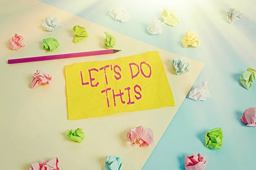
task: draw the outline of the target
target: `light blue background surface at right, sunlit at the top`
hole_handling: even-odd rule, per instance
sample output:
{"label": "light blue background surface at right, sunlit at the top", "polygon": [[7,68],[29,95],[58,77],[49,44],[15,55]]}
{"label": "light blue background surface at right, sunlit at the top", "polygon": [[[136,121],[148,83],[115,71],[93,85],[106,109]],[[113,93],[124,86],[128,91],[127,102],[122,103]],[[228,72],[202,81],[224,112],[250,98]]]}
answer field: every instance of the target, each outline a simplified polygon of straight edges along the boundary
{"label": "light blue background surface at right, sunlit at the top", "polygon": [[[207,170],[255,170],[256,128],[241,121],[243,111],[256,107],[256,84],[248,91],[239,83],[248,67],[256,69],[256,2],[253,0],[41,0],[51,6],[133,37],[137,40],[205,63],[193,88],[208,81],[212,94],[204,102],[184,100],[143,170],[185,170],[184,155],[201,153]],[[234,25],[226,21],[230,3],[243,10]],[[109,11],[124,6],[128,23],[113,20]],[[166,6],[176,9],[180,24],[164,26],[160,35],[146,31],[151,18]],[[43,10],[43,9],[42,9]],[[86,26],[85,26],[86,27]],[[186,31],[197,31],[201,46],[183,48]],[[204,147],[205,133],[221,127],[221,150]],[[130,162],[132,163],[132,162]],[[85,167],[86,168],[86,167]]]}

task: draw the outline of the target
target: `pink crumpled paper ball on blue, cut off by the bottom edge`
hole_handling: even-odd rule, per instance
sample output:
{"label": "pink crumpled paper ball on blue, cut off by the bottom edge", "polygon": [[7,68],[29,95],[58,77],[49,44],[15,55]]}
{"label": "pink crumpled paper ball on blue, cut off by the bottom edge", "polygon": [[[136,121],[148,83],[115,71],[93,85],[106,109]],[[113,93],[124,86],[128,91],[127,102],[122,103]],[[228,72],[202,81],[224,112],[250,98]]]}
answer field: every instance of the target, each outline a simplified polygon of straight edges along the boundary
{"label": "pink crumpled paper ball on blue, cut off by the bottom edge", "polygon": [[200,153],[196,155],[195,153],[192,156],[185,155],[185,169],[186,170],[205,170],[207,166],[206,156],[204,158]]}

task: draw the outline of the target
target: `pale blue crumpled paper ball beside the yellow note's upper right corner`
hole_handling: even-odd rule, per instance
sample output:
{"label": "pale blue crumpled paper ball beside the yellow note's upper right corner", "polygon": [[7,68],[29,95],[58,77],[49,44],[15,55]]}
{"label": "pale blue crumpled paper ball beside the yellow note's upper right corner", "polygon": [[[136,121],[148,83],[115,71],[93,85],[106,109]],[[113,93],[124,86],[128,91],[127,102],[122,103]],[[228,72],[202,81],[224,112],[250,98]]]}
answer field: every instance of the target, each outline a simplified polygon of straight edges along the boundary
{"label": "pale blue crumpled paper ball beside the yellow note's upper right corner", "polygon": [[190,70],[189,62],[180,57],[175,57],[172,60],[172,67],[175,68],[176,74],[179,76]]}

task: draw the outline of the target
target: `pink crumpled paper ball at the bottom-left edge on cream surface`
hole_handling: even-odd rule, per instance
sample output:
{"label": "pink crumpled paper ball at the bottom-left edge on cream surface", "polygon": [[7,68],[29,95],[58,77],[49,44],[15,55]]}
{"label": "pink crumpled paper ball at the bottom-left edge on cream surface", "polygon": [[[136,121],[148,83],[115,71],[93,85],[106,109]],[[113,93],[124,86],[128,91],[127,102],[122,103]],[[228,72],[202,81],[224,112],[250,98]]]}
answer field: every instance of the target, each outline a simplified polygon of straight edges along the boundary
{"label": "pink crumpled paper ball at the bottom-left edge on cream surface", "polygon": [[32,163],[29,170],[59,170],[58,158],[52,158],[49,161],[41,161],[41,163]]}

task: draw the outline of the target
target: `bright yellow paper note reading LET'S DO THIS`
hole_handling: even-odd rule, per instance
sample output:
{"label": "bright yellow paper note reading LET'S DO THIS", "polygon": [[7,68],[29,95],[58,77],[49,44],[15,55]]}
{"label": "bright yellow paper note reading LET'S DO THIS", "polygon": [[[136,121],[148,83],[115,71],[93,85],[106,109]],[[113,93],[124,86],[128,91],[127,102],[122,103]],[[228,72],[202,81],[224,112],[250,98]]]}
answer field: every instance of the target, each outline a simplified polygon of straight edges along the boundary
{"label": "bright yellow paper note reading LET'S DO THIS", "polygon": [[158,51],[65,66],[68,119],[175,106]]}

